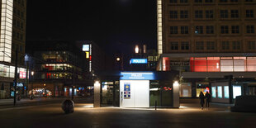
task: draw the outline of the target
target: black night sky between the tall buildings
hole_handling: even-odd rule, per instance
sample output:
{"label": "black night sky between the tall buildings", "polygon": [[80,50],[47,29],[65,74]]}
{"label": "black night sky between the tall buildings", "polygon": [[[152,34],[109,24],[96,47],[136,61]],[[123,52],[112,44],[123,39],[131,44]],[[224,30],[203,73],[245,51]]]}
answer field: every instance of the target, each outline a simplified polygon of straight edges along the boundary
{"label": "black night sky between the tall buildings", "polygon": [[27,0],[26,40],[94,40],[102,48],[156,47],[155,0]]}

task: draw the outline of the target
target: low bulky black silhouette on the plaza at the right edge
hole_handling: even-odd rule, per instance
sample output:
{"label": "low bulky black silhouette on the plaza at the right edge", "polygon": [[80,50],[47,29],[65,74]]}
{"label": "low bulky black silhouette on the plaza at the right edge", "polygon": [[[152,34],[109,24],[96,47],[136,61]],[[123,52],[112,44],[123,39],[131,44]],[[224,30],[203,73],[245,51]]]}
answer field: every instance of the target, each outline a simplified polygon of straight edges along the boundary
{"label": "low bulky black silhouette on the plaza at the right edge", "polygon": [[237,96],[235,97],[235,106],[231,111],[236,112],[256,112],[256,96]]}

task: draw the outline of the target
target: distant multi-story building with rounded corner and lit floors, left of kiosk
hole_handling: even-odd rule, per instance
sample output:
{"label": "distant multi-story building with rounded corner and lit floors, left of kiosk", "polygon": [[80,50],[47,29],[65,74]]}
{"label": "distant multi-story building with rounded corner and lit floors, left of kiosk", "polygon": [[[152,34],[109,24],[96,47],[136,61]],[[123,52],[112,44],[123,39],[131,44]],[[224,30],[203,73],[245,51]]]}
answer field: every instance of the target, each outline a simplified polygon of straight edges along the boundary
{"label": "distant multi-story building with rounded corner and lit floors, left of kiosk", "polygon": [[92,89],[85,54],[74,44],[59,40],[30,41],[28,44],[27,52],[34,56],[30,61],[33,72],[30,94],[71,97],[74,90],[73,95],[84,96]]}

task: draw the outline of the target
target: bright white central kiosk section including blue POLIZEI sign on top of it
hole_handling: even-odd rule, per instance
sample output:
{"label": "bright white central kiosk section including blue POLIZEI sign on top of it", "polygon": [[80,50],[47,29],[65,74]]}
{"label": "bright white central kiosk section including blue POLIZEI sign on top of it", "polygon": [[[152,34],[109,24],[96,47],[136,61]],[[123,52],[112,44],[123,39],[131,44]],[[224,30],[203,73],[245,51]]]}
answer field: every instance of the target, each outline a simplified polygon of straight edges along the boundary
{"label": "bright white central kiosk section including blue POLIZEI sign on top of it", "polygon": [[121,72],[120,107],[149,107],[149,80],[154,73]]}

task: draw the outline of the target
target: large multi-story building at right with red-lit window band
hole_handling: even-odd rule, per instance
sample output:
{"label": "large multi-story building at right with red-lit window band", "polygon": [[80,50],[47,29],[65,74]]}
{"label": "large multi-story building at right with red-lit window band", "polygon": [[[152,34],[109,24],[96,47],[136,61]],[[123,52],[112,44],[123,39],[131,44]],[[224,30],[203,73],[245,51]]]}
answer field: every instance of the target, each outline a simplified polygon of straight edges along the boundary
{"label": "large multi-story building at right with red-lit window band", "polygon": [[184,97],[196,97],[205,79],[256,78],[255,8],[254,0],[157,0],[158,70],[190,79]]}

